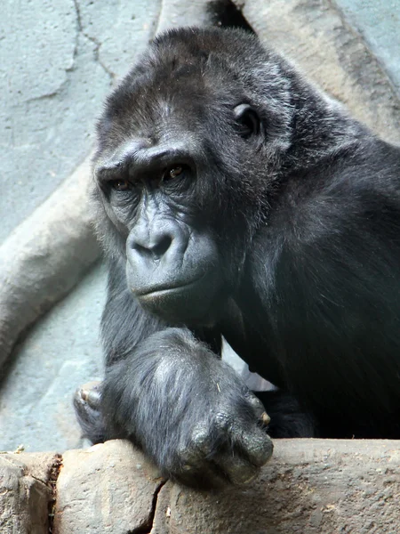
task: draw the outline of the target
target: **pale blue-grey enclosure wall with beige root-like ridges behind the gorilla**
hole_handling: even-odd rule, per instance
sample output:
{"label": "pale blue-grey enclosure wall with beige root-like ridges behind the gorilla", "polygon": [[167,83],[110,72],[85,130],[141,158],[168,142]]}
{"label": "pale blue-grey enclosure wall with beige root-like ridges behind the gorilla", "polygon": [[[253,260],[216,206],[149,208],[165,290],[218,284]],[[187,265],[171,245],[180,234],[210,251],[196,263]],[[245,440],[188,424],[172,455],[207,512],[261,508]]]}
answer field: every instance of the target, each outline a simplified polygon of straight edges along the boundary
{"label": "pale blue-grey enclosure wall with beige root-like ridges behind the gorilla", "polygon": [[[290,55],[378,133],[400,142],[400,0],[237,4],[261,39]],[[101,375],[105,273],[94,265],[99,253],[83,185],[89,171],[80,164],[90,158],[95,117],[111,85],[158,30],[204,23],[204,5],[2,4],[0,364],[7,357],[11,363],[0,390],[0,449],[82,445],[70,398],[76,385]],[[55,213],[48,205],[57,206]],[[52,238],[55,228],[60,239]]]}

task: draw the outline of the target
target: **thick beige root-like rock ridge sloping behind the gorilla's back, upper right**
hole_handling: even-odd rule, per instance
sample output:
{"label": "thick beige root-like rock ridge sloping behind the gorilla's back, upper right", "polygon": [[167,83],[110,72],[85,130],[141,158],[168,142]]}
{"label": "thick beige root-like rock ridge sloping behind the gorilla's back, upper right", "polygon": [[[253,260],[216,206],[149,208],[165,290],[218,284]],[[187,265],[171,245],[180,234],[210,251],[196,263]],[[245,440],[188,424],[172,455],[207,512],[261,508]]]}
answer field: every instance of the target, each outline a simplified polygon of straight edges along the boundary
{"label": "thick beige root-like rock ridge sloping behind the gorilla's back, upper right", "polygon": [[[344,102],[354,117],[383,139],[400,143],[398,94],[380,61],[332,2],[235,0],[235,4],[265,44],[295,61],[306,76]],[[396,30],[396,42],[395,34]]]}

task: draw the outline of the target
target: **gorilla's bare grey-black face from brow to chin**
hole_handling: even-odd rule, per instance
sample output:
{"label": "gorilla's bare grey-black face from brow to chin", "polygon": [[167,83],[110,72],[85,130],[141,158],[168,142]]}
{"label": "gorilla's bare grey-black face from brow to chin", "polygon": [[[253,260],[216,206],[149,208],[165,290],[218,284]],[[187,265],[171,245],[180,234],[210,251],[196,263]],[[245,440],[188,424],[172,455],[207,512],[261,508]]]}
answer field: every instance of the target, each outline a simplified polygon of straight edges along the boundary
{"label": "gorilla's bare grey-black face from brow to chin", "polygon": [[198,208],[196,158],[174,141],[132,141],[96,174],[108,217],[126,238],[128,287],[144,308],[180,322],[207,316],[223,280]]}

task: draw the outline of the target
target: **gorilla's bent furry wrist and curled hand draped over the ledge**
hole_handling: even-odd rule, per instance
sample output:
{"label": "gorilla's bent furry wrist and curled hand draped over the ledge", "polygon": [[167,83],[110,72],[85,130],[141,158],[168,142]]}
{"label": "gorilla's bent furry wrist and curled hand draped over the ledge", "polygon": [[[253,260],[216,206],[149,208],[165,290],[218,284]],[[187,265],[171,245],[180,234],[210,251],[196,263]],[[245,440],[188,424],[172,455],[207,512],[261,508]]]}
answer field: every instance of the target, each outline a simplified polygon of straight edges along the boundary
{"label": "gorilla's bent furry wrist and curled hand draped over the ledge", "polygon": [[115,417],[109,437],[122,430],[174,480],[243,483],[272,454],[260,401],[188,330],[149,336],[103,385],[102,409]]}

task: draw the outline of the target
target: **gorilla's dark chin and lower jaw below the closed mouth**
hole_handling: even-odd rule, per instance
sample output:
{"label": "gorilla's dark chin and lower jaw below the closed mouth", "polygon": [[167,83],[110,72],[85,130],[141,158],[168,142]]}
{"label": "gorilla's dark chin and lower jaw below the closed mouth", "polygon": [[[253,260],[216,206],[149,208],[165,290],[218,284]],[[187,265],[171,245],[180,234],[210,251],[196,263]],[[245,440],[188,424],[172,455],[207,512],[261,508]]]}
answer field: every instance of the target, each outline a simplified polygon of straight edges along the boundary
{"label": "gorilla's dark chin and lower jaw below the closed mouth", "polygon": [[[133,290],[134,291],[134,290]],[[217,271],[206,272],[190,282],[135,292],[142,308],[171,325],[196,323],[208,326],[217,320],[221,305],[226,302]]]}

